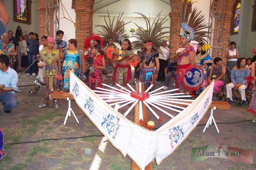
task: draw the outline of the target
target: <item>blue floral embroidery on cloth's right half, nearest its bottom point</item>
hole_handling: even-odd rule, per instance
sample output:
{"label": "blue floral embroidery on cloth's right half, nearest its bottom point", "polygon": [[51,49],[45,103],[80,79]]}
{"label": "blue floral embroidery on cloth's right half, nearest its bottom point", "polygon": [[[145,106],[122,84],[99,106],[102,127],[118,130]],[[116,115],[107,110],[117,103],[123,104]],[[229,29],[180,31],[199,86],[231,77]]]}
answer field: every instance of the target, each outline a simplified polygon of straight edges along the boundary
{"label": "blue floral embroidery on cloth's right half, nearest its bottom point", "polygon": [[181,140],[182,137],[184,136],[184,130],[182,126],[176,126],[169,129],[169,132],[171,132],[169,136],[169,138],[171,139],[171,148],[174,148],[174,145],[177,144],[179,140]]}

